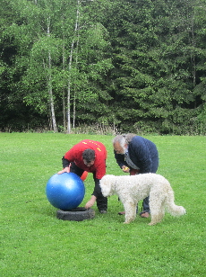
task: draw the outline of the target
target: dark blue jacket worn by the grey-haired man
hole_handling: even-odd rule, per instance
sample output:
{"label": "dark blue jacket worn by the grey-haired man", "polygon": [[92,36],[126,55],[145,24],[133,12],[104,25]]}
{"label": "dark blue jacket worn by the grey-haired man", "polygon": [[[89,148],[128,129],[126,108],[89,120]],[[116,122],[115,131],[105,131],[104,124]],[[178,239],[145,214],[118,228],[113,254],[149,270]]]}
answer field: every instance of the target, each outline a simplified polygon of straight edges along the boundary
{"label": "dark blue jacket worn by the grey-haired man", "polygon": [[[129,143],[128,152],[134,165],[140,168],[140,173],[156,173],[159,166],[159,153],[156,145],[149,139],[144,139],[140,136],[133,137]],[[126,165],[124,155],[116,154],[116,163],[122,168]]]}

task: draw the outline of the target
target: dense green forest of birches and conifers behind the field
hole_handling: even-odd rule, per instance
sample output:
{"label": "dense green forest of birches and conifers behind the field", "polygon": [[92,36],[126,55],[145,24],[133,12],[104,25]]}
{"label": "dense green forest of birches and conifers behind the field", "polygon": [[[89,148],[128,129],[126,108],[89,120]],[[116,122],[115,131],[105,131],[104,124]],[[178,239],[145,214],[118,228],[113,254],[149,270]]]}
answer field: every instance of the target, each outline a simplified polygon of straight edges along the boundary
{"label": "dense green forest of birches and conifers behind the field", "polygon": [[205,0],[2,0],[0,131],[206,134]]}

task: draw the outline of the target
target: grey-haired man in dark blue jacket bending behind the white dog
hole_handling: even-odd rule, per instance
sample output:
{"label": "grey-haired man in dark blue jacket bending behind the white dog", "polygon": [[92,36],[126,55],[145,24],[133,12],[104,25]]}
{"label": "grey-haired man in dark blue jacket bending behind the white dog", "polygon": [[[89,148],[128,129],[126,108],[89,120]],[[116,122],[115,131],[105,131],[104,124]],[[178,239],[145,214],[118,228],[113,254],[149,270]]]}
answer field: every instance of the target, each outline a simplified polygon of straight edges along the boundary
{"label": "grey-haired man in dark blue jacket bending behind the white dog", "polygon": [[[157,172],[159,152],[149,139],[134,134],[118,135],[113,139],[113,147],[116,163],[124,173],[134,175]],[[124,214],[124,211],[119,214]],[[149,196],[143,200],[140,215],[142,218],[150,217]]]}

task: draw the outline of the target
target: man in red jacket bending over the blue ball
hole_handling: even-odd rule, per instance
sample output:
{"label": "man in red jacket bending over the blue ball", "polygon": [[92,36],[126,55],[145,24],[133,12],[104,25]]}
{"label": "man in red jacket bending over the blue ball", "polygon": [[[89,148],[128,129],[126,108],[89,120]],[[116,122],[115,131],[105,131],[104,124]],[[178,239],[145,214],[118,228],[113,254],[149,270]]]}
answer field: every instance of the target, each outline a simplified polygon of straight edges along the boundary
{"label": "man in red jacket bending over the blue ball", "polygon": [[58,172],[73,172],[80,177],[84,171],[92,173],[95,187],[85,208],[90,209],[97,201],[100,213],[107,212],[107,197],[103,196],[99,186],[100,179],[106,174],[106,159],[107,149],[101,142],[84,139],[65,153],[62,158],[64,169]]}

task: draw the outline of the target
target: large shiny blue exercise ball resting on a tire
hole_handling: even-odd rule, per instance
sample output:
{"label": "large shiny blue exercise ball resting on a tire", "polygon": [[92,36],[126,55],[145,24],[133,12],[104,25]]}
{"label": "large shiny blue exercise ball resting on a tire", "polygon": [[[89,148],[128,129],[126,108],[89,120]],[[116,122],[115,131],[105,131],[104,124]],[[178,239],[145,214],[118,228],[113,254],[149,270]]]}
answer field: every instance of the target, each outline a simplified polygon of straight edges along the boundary
{"label": "large shiny blue exercise ball resting on a tire", "polygon": [[82,202],[84,183],[74,173],[54,174],[47,182],[47,200],[57,209],[72,210]]}

